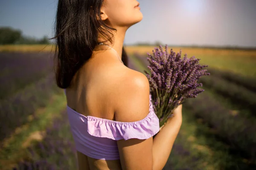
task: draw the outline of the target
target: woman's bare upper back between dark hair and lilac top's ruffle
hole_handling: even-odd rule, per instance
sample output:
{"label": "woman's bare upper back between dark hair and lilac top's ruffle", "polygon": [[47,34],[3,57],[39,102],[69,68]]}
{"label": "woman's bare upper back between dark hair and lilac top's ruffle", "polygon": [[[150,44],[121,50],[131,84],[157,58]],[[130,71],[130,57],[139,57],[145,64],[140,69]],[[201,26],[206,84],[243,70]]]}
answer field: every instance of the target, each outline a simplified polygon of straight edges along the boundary
{"label": "woman's bare upper back between dark hair and lilac top's ruffle", "polygon": [[93,55],[77,71],[70,87],[67,88],[67,105],[84,116],[113,119],[110,101],[113,94],[109,94],[112,90],[108,87],[114,79],[118,78],[118,75],[115,75],[115,69],[127,70],[128,68],[111,54],[113,53],[105,51]]}

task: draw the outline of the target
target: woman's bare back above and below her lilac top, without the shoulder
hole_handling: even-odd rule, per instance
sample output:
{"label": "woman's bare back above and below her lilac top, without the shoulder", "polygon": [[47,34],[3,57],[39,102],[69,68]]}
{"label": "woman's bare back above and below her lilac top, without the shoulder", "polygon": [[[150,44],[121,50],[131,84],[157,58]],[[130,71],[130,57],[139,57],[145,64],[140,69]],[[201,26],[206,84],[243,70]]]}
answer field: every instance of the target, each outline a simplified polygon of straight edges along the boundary
{"label": "woman's bare back above and below her lilac top, without the shoulder", "polygon": [[[95,56],[100,57],[97,54]],[[125,66],[108,57],[108,55],[105,55],[99,59],[92,56],[76,73],[70,87],[66,89],[67,106],[69,108],[73,108],[74,111],[84,116],[114,120],[113,108],[111,108],[111,99],[114,99],[114,96],[108,95],[107,87],[108,82],[111,82],[115,77],[113,75],[114,71],[108,68],[113,64],[119,65],[118,67]],[[116,170],[121,169],[119,159],[94,159],[79,151],[77,151],[77,156],[79,169],[81,170],[105,170],[110,169],[110,167]]]}

